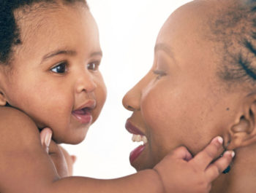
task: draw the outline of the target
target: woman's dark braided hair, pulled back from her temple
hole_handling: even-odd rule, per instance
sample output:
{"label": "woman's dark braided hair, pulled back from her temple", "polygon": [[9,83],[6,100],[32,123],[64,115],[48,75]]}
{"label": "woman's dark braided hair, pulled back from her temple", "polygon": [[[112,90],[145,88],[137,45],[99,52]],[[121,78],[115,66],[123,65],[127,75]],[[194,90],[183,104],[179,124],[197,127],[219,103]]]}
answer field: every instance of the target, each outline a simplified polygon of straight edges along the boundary
{"label": "woman's dark braided hair, pulled back from her temple", "polygon": [[[209,17],[210,39],[221,45],[217,75],[230,85],[255,90],[256,86],[256,0],[233,0]],[[241,83],[246,84],[241,84]]]}

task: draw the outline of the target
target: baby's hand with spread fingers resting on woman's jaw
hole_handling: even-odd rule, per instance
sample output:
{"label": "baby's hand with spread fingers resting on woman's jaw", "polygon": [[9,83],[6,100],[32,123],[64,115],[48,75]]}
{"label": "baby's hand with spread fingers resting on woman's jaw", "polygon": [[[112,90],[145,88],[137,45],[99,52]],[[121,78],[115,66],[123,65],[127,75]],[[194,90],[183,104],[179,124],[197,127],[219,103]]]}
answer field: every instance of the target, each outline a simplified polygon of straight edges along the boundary
{"label": "baby's hand with spread fingers resting on woman's jaw", "polygon": [[226,151],[223,157],[212,162],[219,155],[218,152],[222,149],[222,143],[221,137],[214,138],[194,158],[183,146],[167,154],[154,167],[162,180],[165,192],[210,192],[211,182],[230,165],[235,155],[233,151]]}

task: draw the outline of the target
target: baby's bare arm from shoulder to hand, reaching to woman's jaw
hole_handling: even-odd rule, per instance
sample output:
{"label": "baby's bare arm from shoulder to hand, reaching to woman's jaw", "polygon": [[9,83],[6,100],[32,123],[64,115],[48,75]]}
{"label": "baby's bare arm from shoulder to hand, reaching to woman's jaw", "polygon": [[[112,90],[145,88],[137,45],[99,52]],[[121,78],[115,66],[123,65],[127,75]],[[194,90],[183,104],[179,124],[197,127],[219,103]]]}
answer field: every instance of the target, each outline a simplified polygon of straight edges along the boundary
{"label": "baby's bare arm from shoulder to hand, reaching to woman's jaw", "polygon": [[[60,178],[50,157],[42,149],[34,122],[15,109],[2,107],[0,114],[1,121],[5,120],[4,123],[7,123],[7,125],[1,126],[3,134],[1,135],[3,142],[1,145],[3,152],[3,157],[0,160],[3,166],[1,171],[13,170],[13,173],[9,172],[0,179],[1,192],[34,192],[35,189],[38,189],[38,192],[67,192],[72,189],[72,192],[78,193],[121,192],[123,189],[126,189],[127,192],[184,192],[184,187],[187,189],[186,192],[208,192],[211,188],[211,181],[219,176],[219,173],[227,167],[231,160],[231,154],[228,151],[224,157],[209,165],[211,160],[219,154],[218,151],[222,149],[222,143],[215,139],[194,159],[191,159],[192,157],[186,149],[176,149],[165,157],[154,170],[143,170],[132,176],[108,181],[81,177]],[[15,117],[16,121],[13,122],[11,117]],[[23,129],[16,130],[17,127]],[[26,135],[22,133],[26,133]],[[10,144],[12,145],[10,146]],[[22,152],[22,156],[20,156],[20,152]],[[4,161],[7,159],[8,162]],[[178,165],[180,167],[177,168]],[[177,169],[178,171],[175,172]],[[190,178],[195,179],[189,188],[187,188],[189,186],[187,181],[176,181],[176,178],[173,178],[173,173],[180,176],[182,170],[188,175],[188,178],[190,174]],[[15,185],[12,181],[16,181]],[[20,190],[18,191],[18,189]]]}

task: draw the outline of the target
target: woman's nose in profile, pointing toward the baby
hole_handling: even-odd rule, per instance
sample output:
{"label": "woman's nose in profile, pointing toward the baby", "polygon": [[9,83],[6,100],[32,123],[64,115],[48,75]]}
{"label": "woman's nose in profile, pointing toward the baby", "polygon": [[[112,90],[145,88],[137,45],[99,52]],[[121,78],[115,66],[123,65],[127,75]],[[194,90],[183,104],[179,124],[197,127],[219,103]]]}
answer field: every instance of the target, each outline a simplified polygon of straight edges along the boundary
{"label": "woman's nose in profile, pointing toward the baby", "polygon": [[131,90],[129,90],[123,98],[123,106],[129,111],[139,111],[140,110],[140,87],[138,84],[135,85]]}

